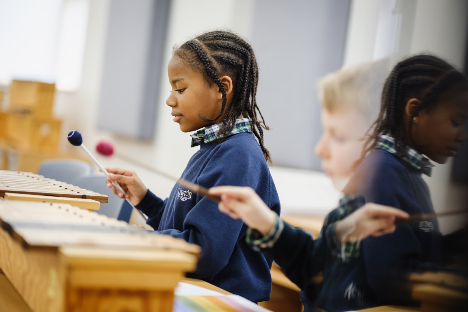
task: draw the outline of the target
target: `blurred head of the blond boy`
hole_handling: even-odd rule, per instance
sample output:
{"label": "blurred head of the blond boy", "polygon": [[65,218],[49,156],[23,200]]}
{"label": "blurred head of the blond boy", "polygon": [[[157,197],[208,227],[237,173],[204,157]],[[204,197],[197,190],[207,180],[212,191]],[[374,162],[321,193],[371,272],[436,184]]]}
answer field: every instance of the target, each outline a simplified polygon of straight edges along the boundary
{"label": "blurred head of the blond boy", "polygon": [[377,119],[389,61],[344,67],[319,81],[323,134],[315,145],[322,169],[343,190],[361,156],[367,129]]}

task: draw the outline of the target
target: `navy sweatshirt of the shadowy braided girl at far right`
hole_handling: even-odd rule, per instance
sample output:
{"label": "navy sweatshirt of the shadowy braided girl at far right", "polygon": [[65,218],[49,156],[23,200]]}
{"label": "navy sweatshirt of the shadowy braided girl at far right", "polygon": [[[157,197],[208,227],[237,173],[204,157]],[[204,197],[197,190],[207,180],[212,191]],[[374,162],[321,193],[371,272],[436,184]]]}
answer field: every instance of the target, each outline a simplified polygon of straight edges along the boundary
{"label": "navy sweatshirt of the shadowy braided girl at far right", "polygon": [[[363,160],[345,193],[366,202],[399,208],[412,214],[433,213],[429,188],[422,171],[394,154],[374,149]],[[406,278],[412,272],[442,268],[442,234],[437,219],[398,225],[394,233],[362,241],[362,276],[353,281],[369,305],[410,304]]]}

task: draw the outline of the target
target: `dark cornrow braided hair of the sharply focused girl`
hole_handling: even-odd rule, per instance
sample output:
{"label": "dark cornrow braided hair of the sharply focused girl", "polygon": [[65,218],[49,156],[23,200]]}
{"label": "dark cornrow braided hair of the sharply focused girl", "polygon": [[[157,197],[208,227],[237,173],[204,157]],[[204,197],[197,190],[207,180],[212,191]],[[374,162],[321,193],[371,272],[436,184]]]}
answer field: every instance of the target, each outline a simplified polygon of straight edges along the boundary
{"label": "dark cornrow braided hair of the sharply focused girl", "polygon": [[[252,132],[262,148],[263,156],[271,162],[270,152],[263,144],[263,129],[270,128],[265,124],[256,102],[258,87],[258,65],[254,51],[241,37],[227,31],[211,31],[182,44],[174,55],[180,57],[187,65],[200,71],[207,83],[215,83],[223,95],[219,115],[212,122],[224,115],[219,133],[229,134],[239,116],[252,120]],[[228,75],[233,80],[234,96],[227,105],[224,85],[219,77]],[[260,115],[260,120],[258,118]],[[217,138],[216,142],[225,141],[227,136]]]}

